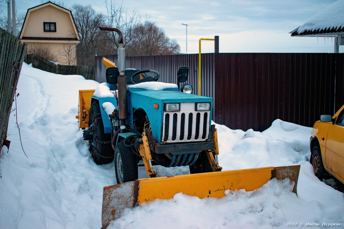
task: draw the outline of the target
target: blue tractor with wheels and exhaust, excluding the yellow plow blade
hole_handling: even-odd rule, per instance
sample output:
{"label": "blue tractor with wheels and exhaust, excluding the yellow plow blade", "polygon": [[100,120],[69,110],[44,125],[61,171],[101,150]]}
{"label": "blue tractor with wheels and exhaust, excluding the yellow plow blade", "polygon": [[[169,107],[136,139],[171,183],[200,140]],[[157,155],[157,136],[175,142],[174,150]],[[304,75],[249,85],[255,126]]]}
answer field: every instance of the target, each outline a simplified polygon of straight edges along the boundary
{"label": "blue tractor with wheels and exhaust, excluding the yellow plow blade", "polygon": [[[120,44],[118,67],[106,70],[107,86],[114,96],[94,94],[90,100],[83,137],[89,141],[94,161],[105,164],[114,159],[117,183],[138,179],[140,160],[149,178],[156,176],[152,166],[157,164],[188,165],[190,173],[221,171],[215,125],[211,125],[213,99],[191,94],[190,84],[179,89],[176,84],[157,82],[157,71],[125,69],[121,32],[100,28],[117,32]],[[178,85],[188,74],[188,67],[179,68]],[[108,103],[114,107],[110,113],[106,112]]]}

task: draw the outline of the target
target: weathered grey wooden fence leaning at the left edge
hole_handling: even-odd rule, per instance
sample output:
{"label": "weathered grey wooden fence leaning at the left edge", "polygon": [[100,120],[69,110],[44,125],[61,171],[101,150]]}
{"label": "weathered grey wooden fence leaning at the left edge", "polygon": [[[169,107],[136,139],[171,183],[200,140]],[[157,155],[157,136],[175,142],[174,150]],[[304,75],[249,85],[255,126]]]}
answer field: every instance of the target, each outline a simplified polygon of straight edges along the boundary
{"label": "weathered grey wooden fence leaning at the left edge", "polygon": [[6,140],[8,120],[23,59],[26,44],[0,28],[0,146],[9,147]]}

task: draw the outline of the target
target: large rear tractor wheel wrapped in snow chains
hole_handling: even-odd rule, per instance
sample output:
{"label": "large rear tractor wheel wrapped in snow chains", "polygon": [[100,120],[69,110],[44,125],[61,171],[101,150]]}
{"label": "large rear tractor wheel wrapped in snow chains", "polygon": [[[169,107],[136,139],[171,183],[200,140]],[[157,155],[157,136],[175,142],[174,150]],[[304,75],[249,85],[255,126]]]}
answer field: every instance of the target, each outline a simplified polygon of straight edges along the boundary
{"label": "large rear tractor wheel wrapped in snow chains", "polygon": [[89,141],[89,151],[96,164],[107,164],[114,158],[111,146],[111,134],[104,134],[98,102],[93,102],[88,112],[88,128],[92,129],[92,140]]}

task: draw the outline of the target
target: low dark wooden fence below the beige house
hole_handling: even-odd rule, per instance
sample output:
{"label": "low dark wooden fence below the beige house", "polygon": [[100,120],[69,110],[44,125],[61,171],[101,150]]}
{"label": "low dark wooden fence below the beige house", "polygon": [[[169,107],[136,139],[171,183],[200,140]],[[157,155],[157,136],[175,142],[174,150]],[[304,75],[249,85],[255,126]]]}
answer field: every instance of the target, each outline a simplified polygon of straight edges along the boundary
{"label": "low dark wooden fence below the beige house", "polygon": [[26,55],[25,62],[43,71],[61,75],[81,75],[87,80],[95,80],[94,66],[58,65],[35,54]]}

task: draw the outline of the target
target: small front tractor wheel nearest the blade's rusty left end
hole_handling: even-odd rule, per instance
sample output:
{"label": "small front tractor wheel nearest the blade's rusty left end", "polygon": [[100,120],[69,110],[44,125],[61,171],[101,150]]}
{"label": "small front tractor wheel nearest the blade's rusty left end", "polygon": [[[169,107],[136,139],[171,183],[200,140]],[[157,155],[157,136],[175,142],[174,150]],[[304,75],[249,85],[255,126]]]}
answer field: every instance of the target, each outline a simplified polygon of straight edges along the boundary
{"label": "small front tractor wheel nearest the blade's rusty left end", "polygon": [[129,147],[118,142],[115,148],[115,172],[117,184],[138,179],[137,158]]}

